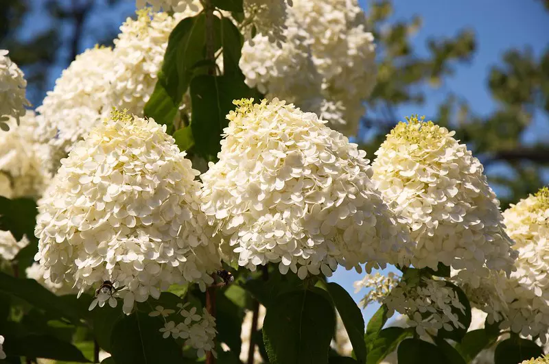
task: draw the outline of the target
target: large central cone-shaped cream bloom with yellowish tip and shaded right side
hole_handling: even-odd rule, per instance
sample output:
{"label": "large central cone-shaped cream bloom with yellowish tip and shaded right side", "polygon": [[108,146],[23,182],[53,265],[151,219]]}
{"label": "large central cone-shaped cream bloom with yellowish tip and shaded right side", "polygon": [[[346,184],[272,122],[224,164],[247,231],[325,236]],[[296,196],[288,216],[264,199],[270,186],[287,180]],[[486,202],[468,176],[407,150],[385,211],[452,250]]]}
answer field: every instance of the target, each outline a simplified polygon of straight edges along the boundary
{"label": "large central cone-shaped cream bloom with yellowish tip and shaded right side", "polygon": [[235,104],[220,160],[201,176],[202,209],[229,260],[279,263],[302,279],[338,264],[406,265],[407,232],[373,188],[364,151],[284,101]]}

